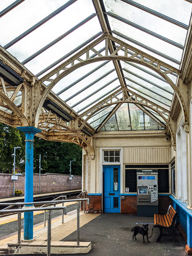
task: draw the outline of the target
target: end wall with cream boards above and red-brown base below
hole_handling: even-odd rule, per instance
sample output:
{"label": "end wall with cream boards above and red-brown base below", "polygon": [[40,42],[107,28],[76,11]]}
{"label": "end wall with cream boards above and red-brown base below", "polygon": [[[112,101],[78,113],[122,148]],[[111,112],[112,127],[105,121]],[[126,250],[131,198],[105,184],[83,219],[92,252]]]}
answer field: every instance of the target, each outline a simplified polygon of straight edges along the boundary
{"label": "end wall with cream boards above and red-brown base below", "polygon": [[[120,212],[136,214],[136,190],[126,192],[126,169],[158,168],[166,178],[165,192],[161,188],[162,196],[159,196],[159,212],[168,208],[171,192],[170,183],[170,159],[175,156],[171,149],[171,140],[164,131],[118,131],[99,132],[93,135],[94,159],[83,152],[82,189],[87,191],[90,204],[87,212],[102,212],[103,210],[103,166],[120,165]],[[103,150],[119,150],[119,162],[104,162]],[[131,178],[131,177],[130,177]],[[136,182],[136,178],[132,177]],[[167,187],[168,186],[168,187]],[[124,195],[124,199],[121,199]],[[166,210],[165,209],[165,210]]]}

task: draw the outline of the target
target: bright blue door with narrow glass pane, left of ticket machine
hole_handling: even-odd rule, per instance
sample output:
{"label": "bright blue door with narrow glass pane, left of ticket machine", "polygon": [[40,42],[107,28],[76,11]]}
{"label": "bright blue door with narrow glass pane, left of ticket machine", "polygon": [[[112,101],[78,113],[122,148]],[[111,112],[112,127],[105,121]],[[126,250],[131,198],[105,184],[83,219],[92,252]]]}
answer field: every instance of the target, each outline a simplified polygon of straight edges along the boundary
{"label": "bright blue door with narrow glass pane, left of ticket machine", "polygon": [[104,212],[120,212],[120,166],[103,166]]}

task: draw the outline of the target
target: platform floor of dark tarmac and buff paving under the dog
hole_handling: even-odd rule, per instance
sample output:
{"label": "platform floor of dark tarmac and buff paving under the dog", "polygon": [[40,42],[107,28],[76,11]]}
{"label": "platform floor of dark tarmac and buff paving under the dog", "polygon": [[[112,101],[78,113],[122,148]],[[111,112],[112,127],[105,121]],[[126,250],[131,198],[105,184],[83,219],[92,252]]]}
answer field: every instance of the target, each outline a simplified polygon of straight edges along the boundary
{"label": "platform floor of dark tarmac and buff paving under the dog", "polygon": [[[61,219],[52,219],[52,239],[51,245],[57,243],[73,242],[76,245],[76,212],[75,210],[70,215],[65,216],[64,225],[61,224]],[[149,234],[152,228],[153,217],[141,217],[129,214],[119,213],[103,213],[103,214],[87,214],[80,213],[80,242],[91,242],[91,250],[86,253],[88,256],[184,256],[186,242],[182,237],[179,229],[176,229],[176,237],[178,243],[173,243],[171,237],[162,237],[161,243],[156,243],[159,230],[153,229],[153,235],[149,239],[150,242],[142,241],[142,235],[137,234],[137,239],[132,240],[131,229],[134,225],[142,225],[149,223]],[[43,224],[34,227],[34,236],[36,245],[46,244],[46,228]],[[38,237],[37,237],[38,236]],[[1,249],[7,246],[7,243],[16,243],[16,235],[0,240]],[[64,244],[64,243],[62,243]],[[66,243],[65,243],[66,244]],[[29,246],[29,244],[27,244]],[[40,246],[39,246],[40,247]],[[42,254],[36,254],[42,255]],[[61,254],[60,254],[61,255]],[[63,254],[63,255],[82,255]]]}

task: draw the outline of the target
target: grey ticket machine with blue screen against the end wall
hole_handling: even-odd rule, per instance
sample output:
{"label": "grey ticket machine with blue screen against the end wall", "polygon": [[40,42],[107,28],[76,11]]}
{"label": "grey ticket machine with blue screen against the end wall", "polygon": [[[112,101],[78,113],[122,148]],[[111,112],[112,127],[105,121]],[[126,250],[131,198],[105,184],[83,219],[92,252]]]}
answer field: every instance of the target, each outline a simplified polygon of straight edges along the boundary
{"label": "grey ticket machine with blue screen against the end wall", "polygon": [[158,170],[136,170],[137,215],[158,213]]}

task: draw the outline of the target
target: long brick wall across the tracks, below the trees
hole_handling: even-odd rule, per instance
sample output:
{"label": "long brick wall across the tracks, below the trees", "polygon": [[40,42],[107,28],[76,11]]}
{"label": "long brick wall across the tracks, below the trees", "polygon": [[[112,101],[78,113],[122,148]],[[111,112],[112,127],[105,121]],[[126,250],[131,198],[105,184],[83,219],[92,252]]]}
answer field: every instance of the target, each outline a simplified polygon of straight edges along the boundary
{"label": "long brick wall across the tracks, below the trees", "polygon": [[[33,174],[33,194],[38,193],[39,174]],[[15,189],[23,191],[24,194],[24,173],[18,175],[18,180],[14,182]],[[70,180],[70,189],[81,189],[81,176],[73,175]],[[50,193],[69,190],[69,175],[45,173],[40,175],[40,192]],[[13,180],[11,174],[0,173],[0,197],[12,196]]]}

